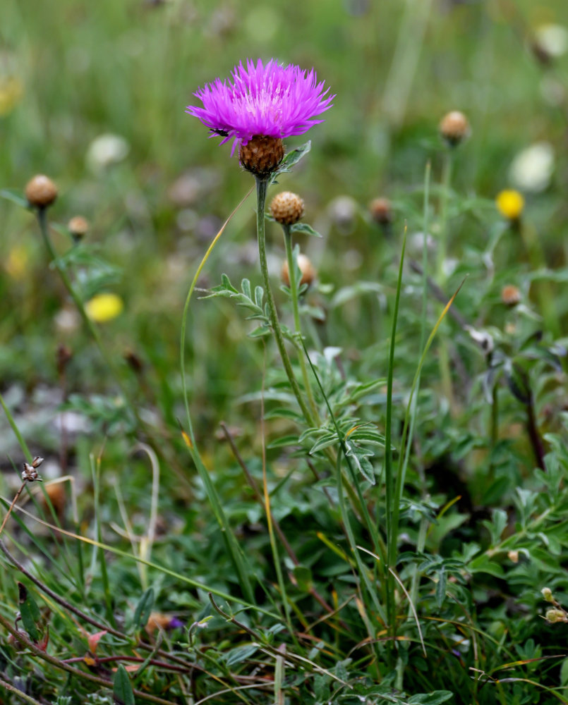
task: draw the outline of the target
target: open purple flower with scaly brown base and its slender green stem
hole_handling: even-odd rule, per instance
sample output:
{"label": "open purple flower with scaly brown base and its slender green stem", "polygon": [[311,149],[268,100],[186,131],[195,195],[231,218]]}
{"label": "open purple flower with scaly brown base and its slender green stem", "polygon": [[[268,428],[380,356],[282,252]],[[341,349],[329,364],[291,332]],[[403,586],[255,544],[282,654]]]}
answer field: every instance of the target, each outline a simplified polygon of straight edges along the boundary
{"label": "open purple flower with scaly brown base and its slender green stem", "polygon": [[[199,118],[212,136],[222,137],[221,144],[232,139],[231,153],[238,147],[241,166],[255,177],[258,252],[270,325],[294,396],[306,421],[313,426],[315,406],[312,401],[312,408],[308,407],[294,376],[270,288],[265,204],[268,185],[278,171],[290,166],[289,159],[284,161],[282,140],[303,135],[313,125],[321,123],[322,120],[315,118],[332,106],[334,95],[328,95],[330,89],[325,89],[324,82],[318,82],[313,69],[308,72],[299,66],[281,66],[274,59],[266,65],[260,59],[256,64],[249,60],[246,67],[241,62],[234,68],[231,78],[224,81],[217,78],[195,92],[203,107],[188,106],[186,112]],[[305,369],[305,363],[301,364]],[[304,379],[306,376],[307,373]]]}

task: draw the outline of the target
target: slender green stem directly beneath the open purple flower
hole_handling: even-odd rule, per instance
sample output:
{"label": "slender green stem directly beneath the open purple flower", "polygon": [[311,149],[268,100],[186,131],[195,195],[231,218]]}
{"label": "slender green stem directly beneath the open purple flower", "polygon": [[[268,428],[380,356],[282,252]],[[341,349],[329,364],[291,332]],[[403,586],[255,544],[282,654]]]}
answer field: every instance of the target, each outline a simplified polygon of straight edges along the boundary
{"label": "slender green stem directly beneath the open purple flower", "polygon": [[294,396],[298,400],[298,405],[300,406],[306,422],[310,426],[315,426],[315,419],[312,413],[308,409],[306,402],[303,400],[302,392],[296,376],[294,376],[294,370],[292,369],[292,364],[288,352],[286,350],[286,345],[284,343],[284,336],[282,335],[282,329],[278,322],[278,314],[276,312],[276,305],[274,304],[274,297],[272,296],[272,288],[270,288],[270,278],[268,276],[268,264],[266,260],[266,236],[265,236],[265,205],[266,205],[266,192],[268,188],[268,180],[266,178],[256,177],[256,232],[258,235],[258,254],[260,256],[260,271],[262,271],[262,281],[264,282],[266,301],[268,305],[268,314],[270,316],[270,325],[272,326],[272,332],[274,333],[274,340],[280,357],[282,358],[282,364],[284,364],[284,370],[288,381],[294,392]]}

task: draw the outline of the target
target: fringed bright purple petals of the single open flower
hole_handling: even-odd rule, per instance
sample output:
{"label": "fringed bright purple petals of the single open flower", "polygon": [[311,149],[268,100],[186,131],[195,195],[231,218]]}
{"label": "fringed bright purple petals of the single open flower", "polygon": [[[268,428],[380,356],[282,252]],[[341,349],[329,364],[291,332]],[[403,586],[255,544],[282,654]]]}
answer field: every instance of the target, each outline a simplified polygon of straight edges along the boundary
{"label": "fringed bright purple petals of the single open flower", "polygon": [[241,61],[231,76],[232,81],[217,78],[195,92],[203,108],[190,105],[186,113],[210,128],[211,136],[222,136],[221,144],[234,139],[233,151],[256,135],[302,135],[323,122],[313,118],[330,108],[335,97],[326,97],[330,89],[318,83],[313,69],[281,66],[275,59],[266,66],[248,59],[246,68]]}

